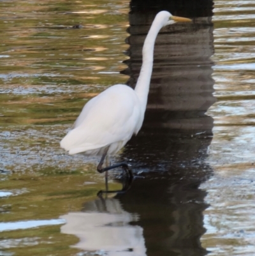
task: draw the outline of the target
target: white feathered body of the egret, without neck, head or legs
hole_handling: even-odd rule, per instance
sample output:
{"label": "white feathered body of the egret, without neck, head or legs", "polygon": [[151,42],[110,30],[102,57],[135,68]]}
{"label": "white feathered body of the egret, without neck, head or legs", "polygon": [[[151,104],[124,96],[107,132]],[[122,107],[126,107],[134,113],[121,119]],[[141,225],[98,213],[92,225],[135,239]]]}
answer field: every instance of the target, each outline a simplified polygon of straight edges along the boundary
{"label": "white feathered body of the egret, without neck, head or legs", "polygon": [[[61,140],[69,154],[117,153],[142,126],[143,113],[135,91],[124,84],[109,87],[92,98],[71,130]],[[121,127],[121,129],[120,129]]]}

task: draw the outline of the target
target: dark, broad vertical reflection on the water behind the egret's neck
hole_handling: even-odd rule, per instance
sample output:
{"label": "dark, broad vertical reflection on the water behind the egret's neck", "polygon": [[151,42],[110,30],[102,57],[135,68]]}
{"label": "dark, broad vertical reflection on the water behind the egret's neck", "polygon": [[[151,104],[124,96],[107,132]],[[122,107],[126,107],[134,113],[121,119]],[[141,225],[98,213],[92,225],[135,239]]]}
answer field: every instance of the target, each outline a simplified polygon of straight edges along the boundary
{"label": "dark, broad vertical reflection on the water behind the egret's neck", "polygon": [[147,255],[205,255],[200,237],[206,192],[199,188],[212,174],[206,163],[215,102],[212,1],[131,1],[130,47],[123,71],[135,87],[142,46],[156,13],[194,18],[193,24],[165,27],[157,36],[149,100],[142,130],[126,146],[123,158],[145,176],[118,198],[137,213]]}

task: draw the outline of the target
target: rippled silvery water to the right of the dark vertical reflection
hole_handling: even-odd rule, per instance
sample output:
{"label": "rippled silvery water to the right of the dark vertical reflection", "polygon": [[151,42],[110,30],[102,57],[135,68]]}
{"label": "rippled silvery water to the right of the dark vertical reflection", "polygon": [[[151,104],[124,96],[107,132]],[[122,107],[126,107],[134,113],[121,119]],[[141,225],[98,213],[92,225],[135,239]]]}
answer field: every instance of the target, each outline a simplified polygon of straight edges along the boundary
{"label": "rippled silvery water to the right of the dark vertical reflection", "polygon": [[214,5],[214,177],[201,185],[210,203],[201,241],[210,255],[254,255],[254,8],[252,1]]}

